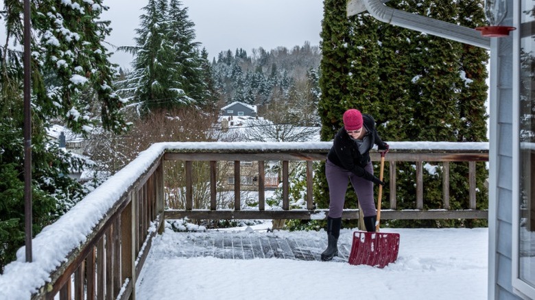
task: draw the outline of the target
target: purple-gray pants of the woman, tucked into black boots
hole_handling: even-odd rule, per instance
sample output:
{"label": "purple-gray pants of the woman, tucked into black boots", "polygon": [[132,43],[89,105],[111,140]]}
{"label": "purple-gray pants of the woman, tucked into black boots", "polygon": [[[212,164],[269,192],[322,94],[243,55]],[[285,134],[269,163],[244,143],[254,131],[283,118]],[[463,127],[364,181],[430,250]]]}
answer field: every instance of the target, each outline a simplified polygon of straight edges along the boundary
{"label": "purple-gray pants of the woman, tucked into black boots", "polygon": [[[372,162],[368,162],[364,169],[373,174]],[[325,163],[325,176],[327,177],[327,184],[329,184],[329,216],[331,218],[340,218],[342,216],[348,181],[351,182],[355,189],[364,216],[375,216],[377,214],[373,199],[372,182],[333,164],[329,160]]]}

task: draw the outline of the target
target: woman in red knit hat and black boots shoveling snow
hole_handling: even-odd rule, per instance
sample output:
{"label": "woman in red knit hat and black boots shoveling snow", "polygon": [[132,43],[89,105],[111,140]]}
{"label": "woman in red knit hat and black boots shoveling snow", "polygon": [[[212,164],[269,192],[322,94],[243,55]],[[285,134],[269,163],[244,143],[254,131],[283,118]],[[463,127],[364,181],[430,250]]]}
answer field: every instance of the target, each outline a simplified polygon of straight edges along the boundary
{"label": "woman in red knit hat and black boots shoveling snow", "polygon": [[327,249],[322,260],[332,260],[338,254],[338,236],[342,227],[342,210],[348,181],[355,189],[364,214],[364,225],[368,232],[375,232],[377,212],[373,198],[373,184],[385,184],[373,175],[370,150],[377,145],[379,150],[388,151],[375,129],[375,121],[368,114],[350,109],[342,116],[344,127],[337,132],[333,147],[327,154],[325,175],[329,184],[329,214],[327,214]]}

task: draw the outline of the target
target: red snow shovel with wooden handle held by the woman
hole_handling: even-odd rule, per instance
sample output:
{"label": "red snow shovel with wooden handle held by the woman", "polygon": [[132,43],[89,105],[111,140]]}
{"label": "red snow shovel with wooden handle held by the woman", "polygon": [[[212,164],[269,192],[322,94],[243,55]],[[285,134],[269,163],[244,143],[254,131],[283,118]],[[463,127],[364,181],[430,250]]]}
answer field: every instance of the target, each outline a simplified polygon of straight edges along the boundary
{"label": "red snow shovel with wooden handle held by the woman", "polygon": [[[379,179],[383,181],[386,151],[381,152],[381,167]],[[377,221],[375,232],[353,232],[353,245],[349,254],[349,264],[367,264],[384,268],[390,262],[395,262],[399,251],[399,234],[379,232],[381,220],[381,197],[383,186],[379,184],[377,197]]]}

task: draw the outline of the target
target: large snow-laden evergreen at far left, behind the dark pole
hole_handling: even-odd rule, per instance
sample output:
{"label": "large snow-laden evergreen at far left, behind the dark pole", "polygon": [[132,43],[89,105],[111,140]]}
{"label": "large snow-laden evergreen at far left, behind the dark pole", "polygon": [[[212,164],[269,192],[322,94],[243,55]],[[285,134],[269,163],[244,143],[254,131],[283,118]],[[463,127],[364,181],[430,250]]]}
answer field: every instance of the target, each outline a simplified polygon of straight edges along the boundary
{"label": "large snow-laden evergreen at far left, behind the dark pole", "polygon": [[[23,5],[5,2],[5,46],[0,51],[0,272],[24,242]],[[32,201],[33,234],[79,201],[86,190],[67,174],[82,166],[47,142],[52,121],[87,134],[102,125],[126,129],[112,79],[104,38],[110,23],[101,21],[101,0],[32,1]],[[88,101],[98,110],[87,110]]]}

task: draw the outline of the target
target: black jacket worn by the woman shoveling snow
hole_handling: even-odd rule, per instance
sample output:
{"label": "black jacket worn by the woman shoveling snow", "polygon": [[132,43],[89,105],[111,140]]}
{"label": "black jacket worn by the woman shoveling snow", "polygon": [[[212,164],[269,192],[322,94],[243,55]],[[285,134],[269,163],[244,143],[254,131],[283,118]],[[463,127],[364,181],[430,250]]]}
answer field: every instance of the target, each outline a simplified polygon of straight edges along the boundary
{"label": "black jacket worn by the woman shoveling snow", "polygon": [[366,136],[370,136],[371,142],[369,149],[361,154],[355,140],[350,138],[346,129],[342,127],[334,140],[333,147],[329,150],[327,158],[335,165],[345,168],[348,171],[353,172],[355,175],[364,177],[370,181],[373,179],[373,175],[364,170],[364,167],[370,161],[370,150],[373,145],[377,145],[379,150],[386,149],[386,143],[379,138],[377,129],[375,128],[375,120],[369,114],[362,114],[364,121],[364,128],[366,128]]}

